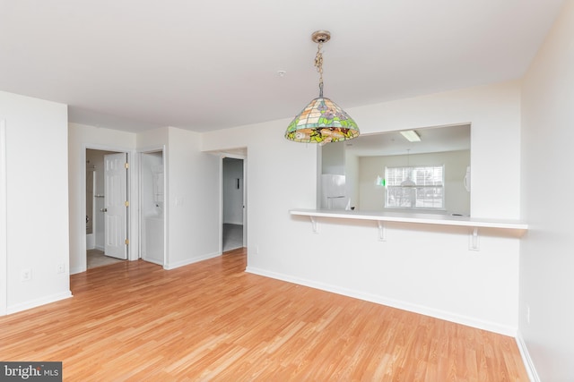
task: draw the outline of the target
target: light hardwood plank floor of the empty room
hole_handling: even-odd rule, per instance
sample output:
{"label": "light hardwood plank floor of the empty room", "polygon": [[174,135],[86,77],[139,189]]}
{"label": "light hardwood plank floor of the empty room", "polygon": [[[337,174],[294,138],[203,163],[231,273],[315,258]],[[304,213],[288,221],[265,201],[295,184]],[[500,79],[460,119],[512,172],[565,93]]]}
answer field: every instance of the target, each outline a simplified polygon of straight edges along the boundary
{"label": "light hardwood plank floor of the empty room", "polygon": [[73,298],[0,318],[0,361],[63,361],[65,381],[528,380],[508,336],[245,267],[239,249],[89,269]]}

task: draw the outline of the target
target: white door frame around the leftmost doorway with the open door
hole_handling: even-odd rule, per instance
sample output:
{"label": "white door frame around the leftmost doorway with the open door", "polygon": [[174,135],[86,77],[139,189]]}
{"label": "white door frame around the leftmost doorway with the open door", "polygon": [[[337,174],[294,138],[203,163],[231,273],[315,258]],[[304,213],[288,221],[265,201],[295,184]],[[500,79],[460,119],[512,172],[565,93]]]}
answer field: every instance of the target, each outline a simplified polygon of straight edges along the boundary
{"label": "white door frame around the leftmost doorway with the open door", "polygon": [[[121,152],[127,154],[127,163],[129,163],[129,169],[127,171],[127,199],[130,203],[130,206],[138,206],[139,201],[137,197],[137,187],[132,187],[132,184],[137,184],[138,180],[138,161],[137,156],[135,155],[135,150],[129,149],[126,147],[121,146],[111,146],[111,145],[99,145],[93,143],[83,143],[82,144],[82,152],[80,153],[80,183],[82,184],[81,190],[85,190],[86,188],[86,150],[93,149],[93,150],[102,150],[102,151],[112,151],[112,152]],[[79,221],[83,226],[79,232],[82,232],[83,235],[80,238],[80,243],[82,244],[82,248],[85,250],[87,248],[86,245],[86,234],[85,234],[85,216],[86,216],[86,193],[85,191],[80,192],[80,219]],[[128,260],[136,260],[138,254],[138,230],[137,225],[133,224],[133,222],[137,222],[137,211],[138,208],[128,208],[127,212],[127,237],[130,241],[129,245],[127,246],[127,259]],[[82,271],[85,272],[87,270],[87,258],[86,256],[82,257],[83,263],[81,265]]]}

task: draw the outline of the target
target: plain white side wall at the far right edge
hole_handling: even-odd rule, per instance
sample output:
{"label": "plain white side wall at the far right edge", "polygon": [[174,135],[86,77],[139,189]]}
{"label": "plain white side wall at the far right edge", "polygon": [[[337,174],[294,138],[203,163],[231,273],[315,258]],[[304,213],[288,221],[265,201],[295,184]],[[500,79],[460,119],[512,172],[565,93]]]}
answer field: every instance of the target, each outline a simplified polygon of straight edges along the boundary
{"label": "plain white side wall at the far right edge", "polygon": [[567,1],[523,86],[522,195],[530,229],[521,243],[519,329],[544,381],[574,380],[573,106],[574,2]]}

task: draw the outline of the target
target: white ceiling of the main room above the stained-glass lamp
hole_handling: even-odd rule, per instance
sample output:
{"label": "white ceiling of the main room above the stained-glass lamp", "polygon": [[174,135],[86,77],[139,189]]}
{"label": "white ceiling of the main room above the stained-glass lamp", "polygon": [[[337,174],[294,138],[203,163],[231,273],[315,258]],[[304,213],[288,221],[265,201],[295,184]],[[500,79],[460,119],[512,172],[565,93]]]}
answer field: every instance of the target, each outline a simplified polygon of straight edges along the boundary
{"label": "white ceiling of the main room above the stained-glass lamp", "polygon": [[[0,89],[71,122],[206,132],[520,78],[563,0],[0,0]],[[283,77],[277,74],[285,71]],[[357,121],[361,127],[361,121]]]}

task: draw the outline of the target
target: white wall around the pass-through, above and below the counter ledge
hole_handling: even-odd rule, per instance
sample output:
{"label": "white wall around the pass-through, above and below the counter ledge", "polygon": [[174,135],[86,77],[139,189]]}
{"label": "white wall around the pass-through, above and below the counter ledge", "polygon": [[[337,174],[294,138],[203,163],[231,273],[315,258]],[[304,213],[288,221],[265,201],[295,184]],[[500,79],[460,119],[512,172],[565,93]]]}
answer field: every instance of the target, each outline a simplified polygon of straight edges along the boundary
{"label": "white wall around the pass-through, above and below the counter ledge", "polygon": [[[348,112],[361,132],[472,123],[473,215],[508,219],[519,217],[519,101],[512,81]],[[514,233],[482,230],[480,251],[456,227],[389,224],[378,242],[376,225],[324,219],[311,233],[289,209],[316,207],[317,147],[285,140],[288,123],[204,134],[205,150],[248,147],[248,271],[516,334]]]}

